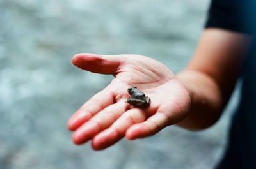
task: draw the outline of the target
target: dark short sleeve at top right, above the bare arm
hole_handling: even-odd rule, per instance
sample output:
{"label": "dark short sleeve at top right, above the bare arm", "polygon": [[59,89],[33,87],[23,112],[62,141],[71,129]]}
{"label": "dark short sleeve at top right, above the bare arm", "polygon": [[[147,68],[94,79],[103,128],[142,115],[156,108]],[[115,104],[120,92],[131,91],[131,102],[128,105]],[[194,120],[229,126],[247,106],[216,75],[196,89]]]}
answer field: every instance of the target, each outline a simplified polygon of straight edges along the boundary
{"label": "dark short sleeve at top right, above the bare arm", "polygon": [[205,27],[252,34],[256,32],[256,1],[212,0]]}

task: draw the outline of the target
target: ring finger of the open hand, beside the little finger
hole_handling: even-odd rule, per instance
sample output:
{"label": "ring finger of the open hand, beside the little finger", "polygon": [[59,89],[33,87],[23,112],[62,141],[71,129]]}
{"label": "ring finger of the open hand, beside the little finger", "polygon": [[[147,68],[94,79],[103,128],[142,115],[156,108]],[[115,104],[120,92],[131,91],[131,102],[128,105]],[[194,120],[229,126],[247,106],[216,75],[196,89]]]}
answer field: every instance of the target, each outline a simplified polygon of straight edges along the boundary
{"label": "ring finger of the open hand, beside the little finger", "polygon": [[143,122],[146,114],[143,110],[132,108],[125,112],[113,125],[96,135],[92,140],[92,147],[95,150],[105,149],[118,142],[125,136],[125,131],[138,122]]}

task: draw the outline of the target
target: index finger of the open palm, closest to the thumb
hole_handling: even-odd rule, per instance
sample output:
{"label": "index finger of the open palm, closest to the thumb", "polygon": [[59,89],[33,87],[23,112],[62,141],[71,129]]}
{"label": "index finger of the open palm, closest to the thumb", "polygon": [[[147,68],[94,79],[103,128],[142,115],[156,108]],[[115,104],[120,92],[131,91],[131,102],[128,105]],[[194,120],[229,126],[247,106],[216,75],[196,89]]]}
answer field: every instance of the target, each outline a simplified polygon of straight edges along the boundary
{"label": "index finger of the open palm, closest to the thumb", "polygon": [[108,89],[95,94],[91,99],[86,101],[84,105],[77,110],[76,113],[70,117],[68,121],[68,129],[71,131],[76,130],[84,122],[88,121],[93,115],[97,114],[100,110],[108,107],[114,103],[113,94]]}

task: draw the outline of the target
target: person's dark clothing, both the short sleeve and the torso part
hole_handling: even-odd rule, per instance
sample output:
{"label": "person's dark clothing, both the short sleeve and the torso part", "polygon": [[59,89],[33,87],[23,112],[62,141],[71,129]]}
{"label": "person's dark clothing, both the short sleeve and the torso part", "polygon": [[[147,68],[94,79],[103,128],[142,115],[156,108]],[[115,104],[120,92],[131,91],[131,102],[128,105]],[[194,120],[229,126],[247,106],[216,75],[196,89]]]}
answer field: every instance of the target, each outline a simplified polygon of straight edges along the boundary
{"label": "person's dark clothing, both the short sleeve and the torso part", "polygon": [[[256,1],[213,0],[205,27],[255,36]],[[217,168],[256,168],[256,45],[244,65],[241,102],[232,119],[227,152]]]}

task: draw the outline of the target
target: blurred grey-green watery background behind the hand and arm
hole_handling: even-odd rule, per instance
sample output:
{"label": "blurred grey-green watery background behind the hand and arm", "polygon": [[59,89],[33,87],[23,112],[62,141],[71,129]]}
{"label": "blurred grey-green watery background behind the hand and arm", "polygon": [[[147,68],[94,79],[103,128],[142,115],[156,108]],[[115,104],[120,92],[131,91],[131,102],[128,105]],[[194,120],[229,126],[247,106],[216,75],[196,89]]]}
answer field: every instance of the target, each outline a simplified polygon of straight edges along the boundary
{"label": "blurred grey-green watery background behind the hand and arm", "polygon": [[0,168],[213,168],[239,92],[217,124],[170,126],[105,151],[72,143],[67,120],[112,76],[75,68],[72,55],[140,54],[175,73],[188,64],[209,0],[1,0]]}

